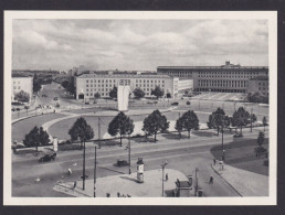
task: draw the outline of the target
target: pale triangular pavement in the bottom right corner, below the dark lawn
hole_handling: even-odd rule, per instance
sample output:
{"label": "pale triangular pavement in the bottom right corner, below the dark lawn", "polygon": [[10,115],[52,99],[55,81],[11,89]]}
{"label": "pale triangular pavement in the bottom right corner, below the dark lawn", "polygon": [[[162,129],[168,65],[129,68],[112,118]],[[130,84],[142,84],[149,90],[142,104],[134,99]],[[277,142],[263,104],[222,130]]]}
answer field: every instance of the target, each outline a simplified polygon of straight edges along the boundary
{"label": "pale triangular pavement in the bottom right corner, below the dark lawn", "polygon": [[268,196],[270,178],[266,175],[249,172],[224,164],[223,170],[219,163],[212,165],[213,170],[221,175],[242,196]]}

